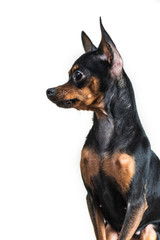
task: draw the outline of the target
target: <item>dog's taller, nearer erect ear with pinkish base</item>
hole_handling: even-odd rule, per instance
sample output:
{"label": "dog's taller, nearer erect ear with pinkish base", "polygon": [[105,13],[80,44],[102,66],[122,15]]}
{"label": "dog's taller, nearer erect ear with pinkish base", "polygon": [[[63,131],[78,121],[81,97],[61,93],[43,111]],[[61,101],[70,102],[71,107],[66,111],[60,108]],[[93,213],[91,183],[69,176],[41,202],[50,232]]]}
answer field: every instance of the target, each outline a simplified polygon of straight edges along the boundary
{"label": "dog's taller, nearer erect ear with pinkish base", "polygon": [[106,32],[102,25],[102,20],[100,18],[100,27],[102,33],[102,39],[99,45],[99,53],[100,58],[104,61],[107,61],[111,66],[111,75],[114,78],[118,78],[121,76],[122,68],[123,68],[123,61],[122,58],[112,41],[109,34]]}

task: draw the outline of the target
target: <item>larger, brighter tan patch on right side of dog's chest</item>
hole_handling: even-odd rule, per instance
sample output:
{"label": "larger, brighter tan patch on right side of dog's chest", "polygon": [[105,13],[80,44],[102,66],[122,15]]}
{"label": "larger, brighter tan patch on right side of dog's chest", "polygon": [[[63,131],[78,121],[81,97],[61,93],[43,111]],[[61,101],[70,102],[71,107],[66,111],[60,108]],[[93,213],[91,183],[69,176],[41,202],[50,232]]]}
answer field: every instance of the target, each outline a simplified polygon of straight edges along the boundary
{"label": "larger, brighter tan patch on right side of dog's chest", "polygon": [[116,153],[104,159],[103,170],[113,177],[123,192],[127,192],[135,173],[135,160],[126,153]]}

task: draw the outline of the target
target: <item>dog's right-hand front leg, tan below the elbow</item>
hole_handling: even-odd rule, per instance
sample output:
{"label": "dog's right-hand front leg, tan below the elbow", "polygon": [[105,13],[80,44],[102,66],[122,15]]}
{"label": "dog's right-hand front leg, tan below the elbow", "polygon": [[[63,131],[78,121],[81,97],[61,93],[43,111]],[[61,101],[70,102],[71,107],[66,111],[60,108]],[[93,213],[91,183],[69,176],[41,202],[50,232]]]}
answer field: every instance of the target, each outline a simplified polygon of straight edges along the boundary
{"label": "dog's right-hand front leg, tan below the elbow", "polygon": [[118,240],[130,240],[136,232],[148,205],[145,199],[130,201]]}

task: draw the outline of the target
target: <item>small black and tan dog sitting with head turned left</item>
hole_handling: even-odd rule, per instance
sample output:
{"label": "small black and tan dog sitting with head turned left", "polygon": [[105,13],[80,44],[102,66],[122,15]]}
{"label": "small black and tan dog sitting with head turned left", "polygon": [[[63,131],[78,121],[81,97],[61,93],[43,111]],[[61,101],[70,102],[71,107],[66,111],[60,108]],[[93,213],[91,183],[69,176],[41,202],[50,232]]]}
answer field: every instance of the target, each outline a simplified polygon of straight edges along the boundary
{"label": "small black and tan dog sitting with head turned left", "polygon": [[69,81],[47,90],[63,108],[94,111],[81,173],[97,240],[160,239],[160,161],[139,120],[122,58],[105,31],[96,48],[82,32],[83,54]]}

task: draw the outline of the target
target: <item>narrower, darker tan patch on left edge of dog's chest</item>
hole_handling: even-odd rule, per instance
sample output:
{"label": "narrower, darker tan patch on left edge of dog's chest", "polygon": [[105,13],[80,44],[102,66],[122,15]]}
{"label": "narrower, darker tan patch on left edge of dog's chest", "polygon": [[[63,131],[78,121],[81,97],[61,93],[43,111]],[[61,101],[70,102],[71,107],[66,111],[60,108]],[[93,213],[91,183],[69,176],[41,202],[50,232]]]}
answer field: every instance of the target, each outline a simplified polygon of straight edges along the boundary
{"label": "narrower, darker tan patch on left edge of dog's chest", "polygon": [[92,149],[84,148],[82,150],[80,167],[85,184],[92,187],[91,177],[98,174],[100,167],[98,155]]}

